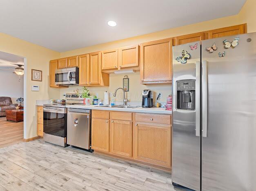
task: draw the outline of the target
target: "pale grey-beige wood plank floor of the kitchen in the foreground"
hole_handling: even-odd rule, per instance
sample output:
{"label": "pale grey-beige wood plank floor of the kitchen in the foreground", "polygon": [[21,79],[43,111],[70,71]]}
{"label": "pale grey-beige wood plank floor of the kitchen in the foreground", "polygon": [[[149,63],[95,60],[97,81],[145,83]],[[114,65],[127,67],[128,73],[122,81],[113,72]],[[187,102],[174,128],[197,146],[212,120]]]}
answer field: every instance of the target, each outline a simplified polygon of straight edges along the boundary
{"label": "pale grey-beige wood plank floor of the kitchen in the foreground", "polygon": [[170,173],[42,139],[0,148],[0,190],[180,191]]}

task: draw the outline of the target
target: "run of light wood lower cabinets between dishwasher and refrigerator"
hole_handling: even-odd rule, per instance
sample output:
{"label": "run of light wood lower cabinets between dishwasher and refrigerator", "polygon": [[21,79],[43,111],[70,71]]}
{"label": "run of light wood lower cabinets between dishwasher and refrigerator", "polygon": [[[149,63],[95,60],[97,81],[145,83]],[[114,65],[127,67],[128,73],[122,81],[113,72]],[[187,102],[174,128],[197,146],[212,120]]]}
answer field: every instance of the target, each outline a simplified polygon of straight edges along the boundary
{"label": "run of light wood lower cabinets between dishwasher and refrigerator", "polygon": [[94,151],[171,170],[171,115],[92,111]]}

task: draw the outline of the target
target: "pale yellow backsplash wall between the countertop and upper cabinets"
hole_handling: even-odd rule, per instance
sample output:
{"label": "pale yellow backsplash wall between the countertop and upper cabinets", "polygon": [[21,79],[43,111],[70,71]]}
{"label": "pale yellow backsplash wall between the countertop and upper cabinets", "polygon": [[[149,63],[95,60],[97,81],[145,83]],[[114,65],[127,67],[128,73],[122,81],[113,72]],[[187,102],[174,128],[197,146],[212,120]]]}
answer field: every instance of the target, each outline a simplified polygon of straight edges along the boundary
{"label": "pale yellow backsplash wall between the countertop and upper cabinets", "polygon": [[[156,84],[156,85],[143,85],[140,84],[140,72],[129,73],[129,74],[114,74],[111,73],[109,76],[109,87],[87,87],[90,90],[91,95],[98,93],[98,98],[104,98],[104,92],[114,93],[118,87],[122,87],[122,79],[127,75],[129,78],[129,91],[126,92],[127,99],[129,102],[141,102],[142,90],[151,89],[154,91],[154,102],[156,102],[157,93],[162,93],[160,102],[165,102],[166,97],[171,94],[171,84]],[[82,87],[74,86],[69,88],[60,89],[60,98],[64,99],[65,93],[74,93],[74,90],[79,89],[79,93],[82,92]],[[110,98],[111,99],[111,98]],[[117,91],[115,101],[122,101],[123,93],[121,90]]]}

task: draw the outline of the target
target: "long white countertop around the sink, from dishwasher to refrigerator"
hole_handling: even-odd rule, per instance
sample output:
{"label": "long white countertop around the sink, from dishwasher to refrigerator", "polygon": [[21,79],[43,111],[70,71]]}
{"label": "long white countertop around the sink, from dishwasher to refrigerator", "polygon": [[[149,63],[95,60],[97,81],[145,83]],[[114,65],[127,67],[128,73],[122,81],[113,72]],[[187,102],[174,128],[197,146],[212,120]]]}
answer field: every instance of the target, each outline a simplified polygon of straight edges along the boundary
{"label": "long white countertop around the sink, from dishwasher to refrigerator", "polygon": [[97,105],[68,105],[67,108],[171,114],[171,111],[167,111],[160,107],[159,108],[158,107],[151,107],[151,108],[137,107],[137,108],[133,108],[133,109],[124,109],[124,108],[116,108],[116,107],[96,107],[96,106]]}

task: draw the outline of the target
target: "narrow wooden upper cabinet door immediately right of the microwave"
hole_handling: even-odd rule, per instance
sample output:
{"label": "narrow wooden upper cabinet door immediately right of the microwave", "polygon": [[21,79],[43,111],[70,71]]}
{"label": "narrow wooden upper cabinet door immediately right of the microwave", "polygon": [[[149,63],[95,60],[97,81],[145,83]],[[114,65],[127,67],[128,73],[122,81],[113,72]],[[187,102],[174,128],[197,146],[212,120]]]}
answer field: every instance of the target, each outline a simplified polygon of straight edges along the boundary
{"label": "narrow wooden upper cabinet door immediately right of the microwave", "polygon": [[79,63],[79,85],[89,84],[89,54],[78,56]]}

